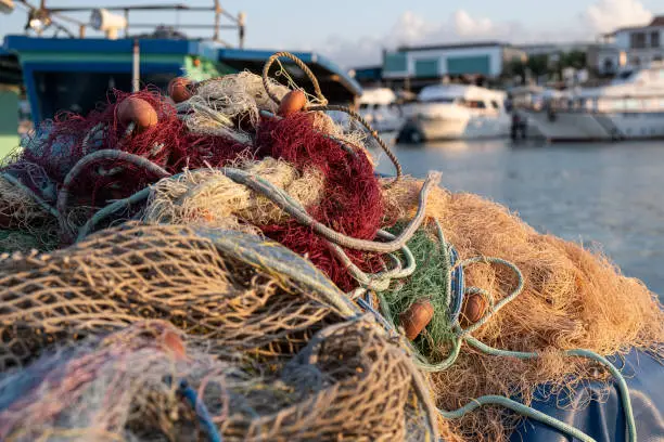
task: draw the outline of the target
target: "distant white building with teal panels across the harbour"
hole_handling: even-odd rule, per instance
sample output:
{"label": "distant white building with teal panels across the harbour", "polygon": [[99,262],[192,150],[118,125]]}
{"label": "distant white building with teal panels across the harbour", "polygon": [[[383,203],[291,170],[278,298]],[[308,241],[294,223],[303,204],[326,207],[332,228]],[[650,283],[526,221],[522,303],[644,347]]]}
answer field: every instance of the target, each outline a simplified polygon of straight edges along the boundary
{"label": "distant white building with teal panels across the harbour", "polygon": [[383,80],[388,86],[417,90],[449,77],[491,79],[512,61],[526,58],[524,51],[497,41],[404,47],[383,53]]}

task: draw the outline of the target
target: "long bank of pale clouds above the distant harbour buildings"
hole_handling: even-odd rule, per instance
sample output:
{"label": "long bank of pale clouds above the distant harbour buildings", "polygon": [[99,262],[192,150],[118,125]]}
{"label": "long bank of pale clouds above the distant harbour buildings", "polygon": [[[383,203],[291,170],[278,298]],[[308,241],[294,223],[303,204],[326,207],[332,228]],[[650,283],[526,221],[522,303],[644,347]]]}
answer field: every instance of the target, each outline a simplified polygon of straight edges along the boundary
{"label": "long bank of pale clouds above the distant harbour buildings", "polygon": [[380,64],[383,49],[398,46],[498,40],[511,43],[593,40],[616,27],[642,25],[652,20],[639,0],[598,0],[566,23],[551,29],[526,27],[516,22],[495,22],[458,10],[447,20],[433,22],[412,11],[404,12],[384,36],[347,40],[330,37],[318,50],[342,66]]}

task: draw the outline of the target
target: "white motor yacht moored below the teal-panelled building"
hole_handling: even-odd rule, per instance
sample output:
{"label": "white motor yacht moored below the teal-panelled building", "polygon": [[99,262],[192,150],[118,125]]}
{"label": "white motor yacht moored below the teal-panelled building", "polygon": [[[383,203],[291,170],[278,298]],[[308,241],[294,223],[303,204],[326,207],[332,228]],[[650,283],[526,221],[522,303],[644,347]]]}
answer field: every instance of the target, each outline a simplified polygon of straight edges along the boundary
{"label": "white motor yacht moored below the teal-panelled building", "polygon": [[506,96],[502,91],[476,86],[427,86],[408,110],[409,123],[400,138],[418,142],[507,136],[511,117]]}

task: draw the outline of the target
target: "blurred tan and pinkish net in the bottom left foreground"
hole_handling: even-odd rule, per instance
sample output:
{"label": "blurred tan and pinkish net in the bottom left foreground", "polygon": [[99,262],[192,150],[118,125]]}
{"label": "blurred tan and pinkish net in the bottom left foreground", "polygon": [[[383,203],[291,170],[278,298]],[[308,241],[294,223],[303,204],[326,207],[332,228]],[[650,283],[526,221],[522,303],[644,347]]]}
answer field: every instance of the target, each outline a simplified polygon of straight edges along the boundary
{"label": "blurred tan and pinkish net in the bottom left foreground", "polygon": [[229,441],[426,438],[408,356],[366,322],[324,328],[270,369],[184,343],[138,323],[42,356],[0,380],[0,438],[199,441],[204,424]]}

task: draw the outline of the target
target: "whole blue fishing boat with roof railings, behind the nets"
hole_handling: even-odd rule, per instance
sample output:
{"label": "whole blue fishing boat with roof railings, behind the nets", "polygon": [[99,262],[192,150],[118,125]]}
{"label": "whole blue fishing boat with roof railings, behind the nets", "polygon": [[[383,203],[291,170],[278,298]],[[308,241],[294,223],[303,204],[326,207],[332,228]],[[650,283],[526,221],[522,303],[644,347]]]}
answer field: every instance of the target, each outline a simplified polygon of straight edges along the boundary
{"label": "whole blue fishing boat with roof railings, behind the nets", "polygon": [[[170,79],[182,75],[192,81],[201,81],[242,70],[260,73],[266,60],[276,52],[245,49],[244,14],[230,14],[220,8],[218,0],[210,1],[207,6],[139,4],[47,8],[44,3],[41,2],[40,8],[30,6],[27,35],[9,35],[0,48],[0,62],[12,63],[15,70],[12,77],[14,83],[23,82],[25,86],[35,126],[61,110],[87,114],[99,103],[106,102],[113,89],[136,91],[151,86],[165,91]],[[149,25],[132,23],[130,13],[145,10],[209,11],[214,23],[178,23],[156,28],[150,25],[152,28],[148,32],[131,34],[130,29]],[[90,11],[89,22],[78,22],[63,15],[80,11]],[[20,11],[13,14],[20,16]],[[66,21],[63,22],[63,18]],[[224,24],[222,18],[229,24]],[[78,34],[66,27],[69,22],[79,26]],[[105,37],[86,37],[89,27],[103,31]],[[188,38],[183,29],[190,27],[213,31],[206,38]],[[238,31],[235,46],[220,38],[220,32],[229,28]],[[47,36],[51,30],[53,36]],[[124,35],[120,36],[122,32]],[[362,89],[357,81],[330,60],[316,52],[293,53],[319,78],[320,88],[331,104],[354,104],[361,95]],[[289,60],[282,64],[292,80],[306,81],[305,73],[295,64]],[[280,76],[278,81],[286,81],[285,76]],[[15,89],[12,89],[11,96],[0,94],[0,108],[18,106]],[[12,128],[10,132],[14,132],[18,126],[16,121],[8,125]],[[0,157],[17,144],[16,133],[0,145]]]}

